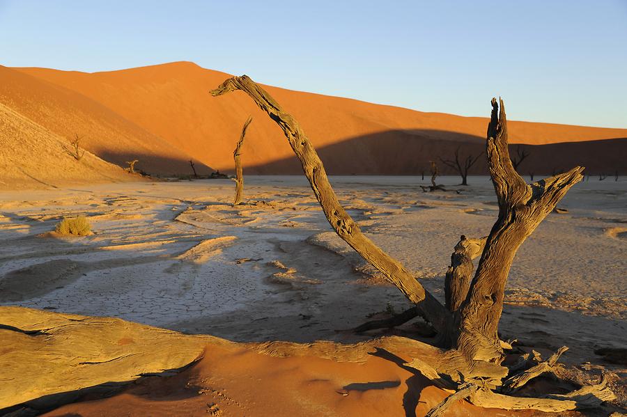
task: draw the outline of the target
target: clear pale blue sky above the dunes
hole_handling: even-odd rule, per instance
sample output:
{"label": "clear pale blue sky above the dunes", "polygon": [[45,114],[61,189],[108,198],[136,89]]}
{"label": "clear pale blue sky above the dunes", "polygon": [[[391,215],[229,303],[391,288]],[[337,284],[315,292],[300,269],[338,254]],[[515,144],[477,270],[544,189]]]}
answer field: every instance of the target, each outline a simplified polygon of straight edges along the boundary
{"label": "clear pale blue sky above the dunes", "polygon": [[627,0],[0,0],[0,64],[171,61],[421,111],[627,127]]}

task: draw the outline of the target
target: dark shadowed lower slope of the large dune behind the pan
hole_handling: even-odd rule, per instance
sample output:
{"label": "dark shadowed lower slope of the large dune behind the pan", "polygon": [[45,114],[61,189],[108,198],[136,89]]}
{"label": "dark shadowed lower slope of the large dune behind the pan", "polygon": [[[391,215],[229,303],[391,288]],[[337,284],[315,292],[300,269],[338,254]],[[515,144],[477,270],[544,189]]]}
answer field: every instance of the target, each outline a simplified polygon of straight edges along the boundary
{"label": "dark shadowed lower slope of the large dune behind the pan", "polygon": [[[447,134],[447,139],[433,136]],[[521,175],[550,174],[568,171],[573,166],[585,166],[591,175],[615,172],[627,173],[625,157],[627,138],[601,141],[550,143],[548,145],[510,145],[511,155],[520,150],[529,155],[518,167]],[[392,130],[360,136],[318,148],[325,169],[333,175],[404,175],[424,173],[430,175],[430,160],[438,162],[441,175],[457,175],[453,168],[444,165],[438,157],[450,160],[459,149],[460,159],[476,157],[485,150],[483,139],[477,136],[422,130]],[[344,155],[353,155],[346,158]],[[411,155],[412,157],[407,157]],[[278,161],[255,166],[245,166],[250,174],[288,174],[299,172],[300,161],[291,155]],[[488,163],[483,154],[470,168],[472,175],[488,175]]]}

